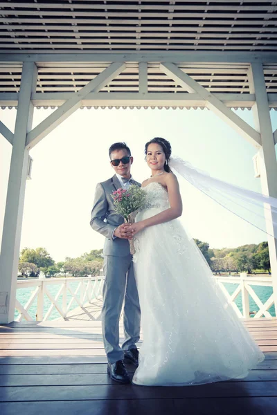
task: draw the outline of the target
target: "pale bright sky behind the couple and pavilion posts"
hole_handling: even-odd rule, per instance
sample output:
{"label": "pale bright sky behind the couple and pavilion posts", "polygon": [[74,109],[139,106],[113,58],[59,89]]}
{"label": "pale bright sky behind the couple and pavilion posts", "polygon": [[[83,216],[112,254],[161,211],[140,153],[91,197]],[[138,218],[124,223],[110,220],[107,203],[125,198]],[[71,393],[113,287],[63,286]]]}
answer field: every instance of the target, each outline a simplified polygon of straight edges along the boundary
{"label": "pale bright sky behind the couple and pavilion posts", "polygon": [[[53,110],[35,109],[33,127]],[[253,126],[251,111],[236,111]],[[273,129],[277,111],[270,111]],[[0,120],[14,131],[15,109],[0,109]],[[100,249],[104,237],[90,228],[96,184],[114,174],[109,146],[125,141],[132,151],[132,176],[150,176],[145,142],[160,136],[172,153],[211,176],[261,192],[254,178],[257,150],[212,111],[201,109],[79,109],[31,151],[32,179],[26,183],[21,248],[44,247],[55,261]],[[12,146],[0,134],[0,234],[6,203]],[[267,235],[227,212],[179,179],[184,204],[182,223],[190,236],[211,248],[260,243]]]}

